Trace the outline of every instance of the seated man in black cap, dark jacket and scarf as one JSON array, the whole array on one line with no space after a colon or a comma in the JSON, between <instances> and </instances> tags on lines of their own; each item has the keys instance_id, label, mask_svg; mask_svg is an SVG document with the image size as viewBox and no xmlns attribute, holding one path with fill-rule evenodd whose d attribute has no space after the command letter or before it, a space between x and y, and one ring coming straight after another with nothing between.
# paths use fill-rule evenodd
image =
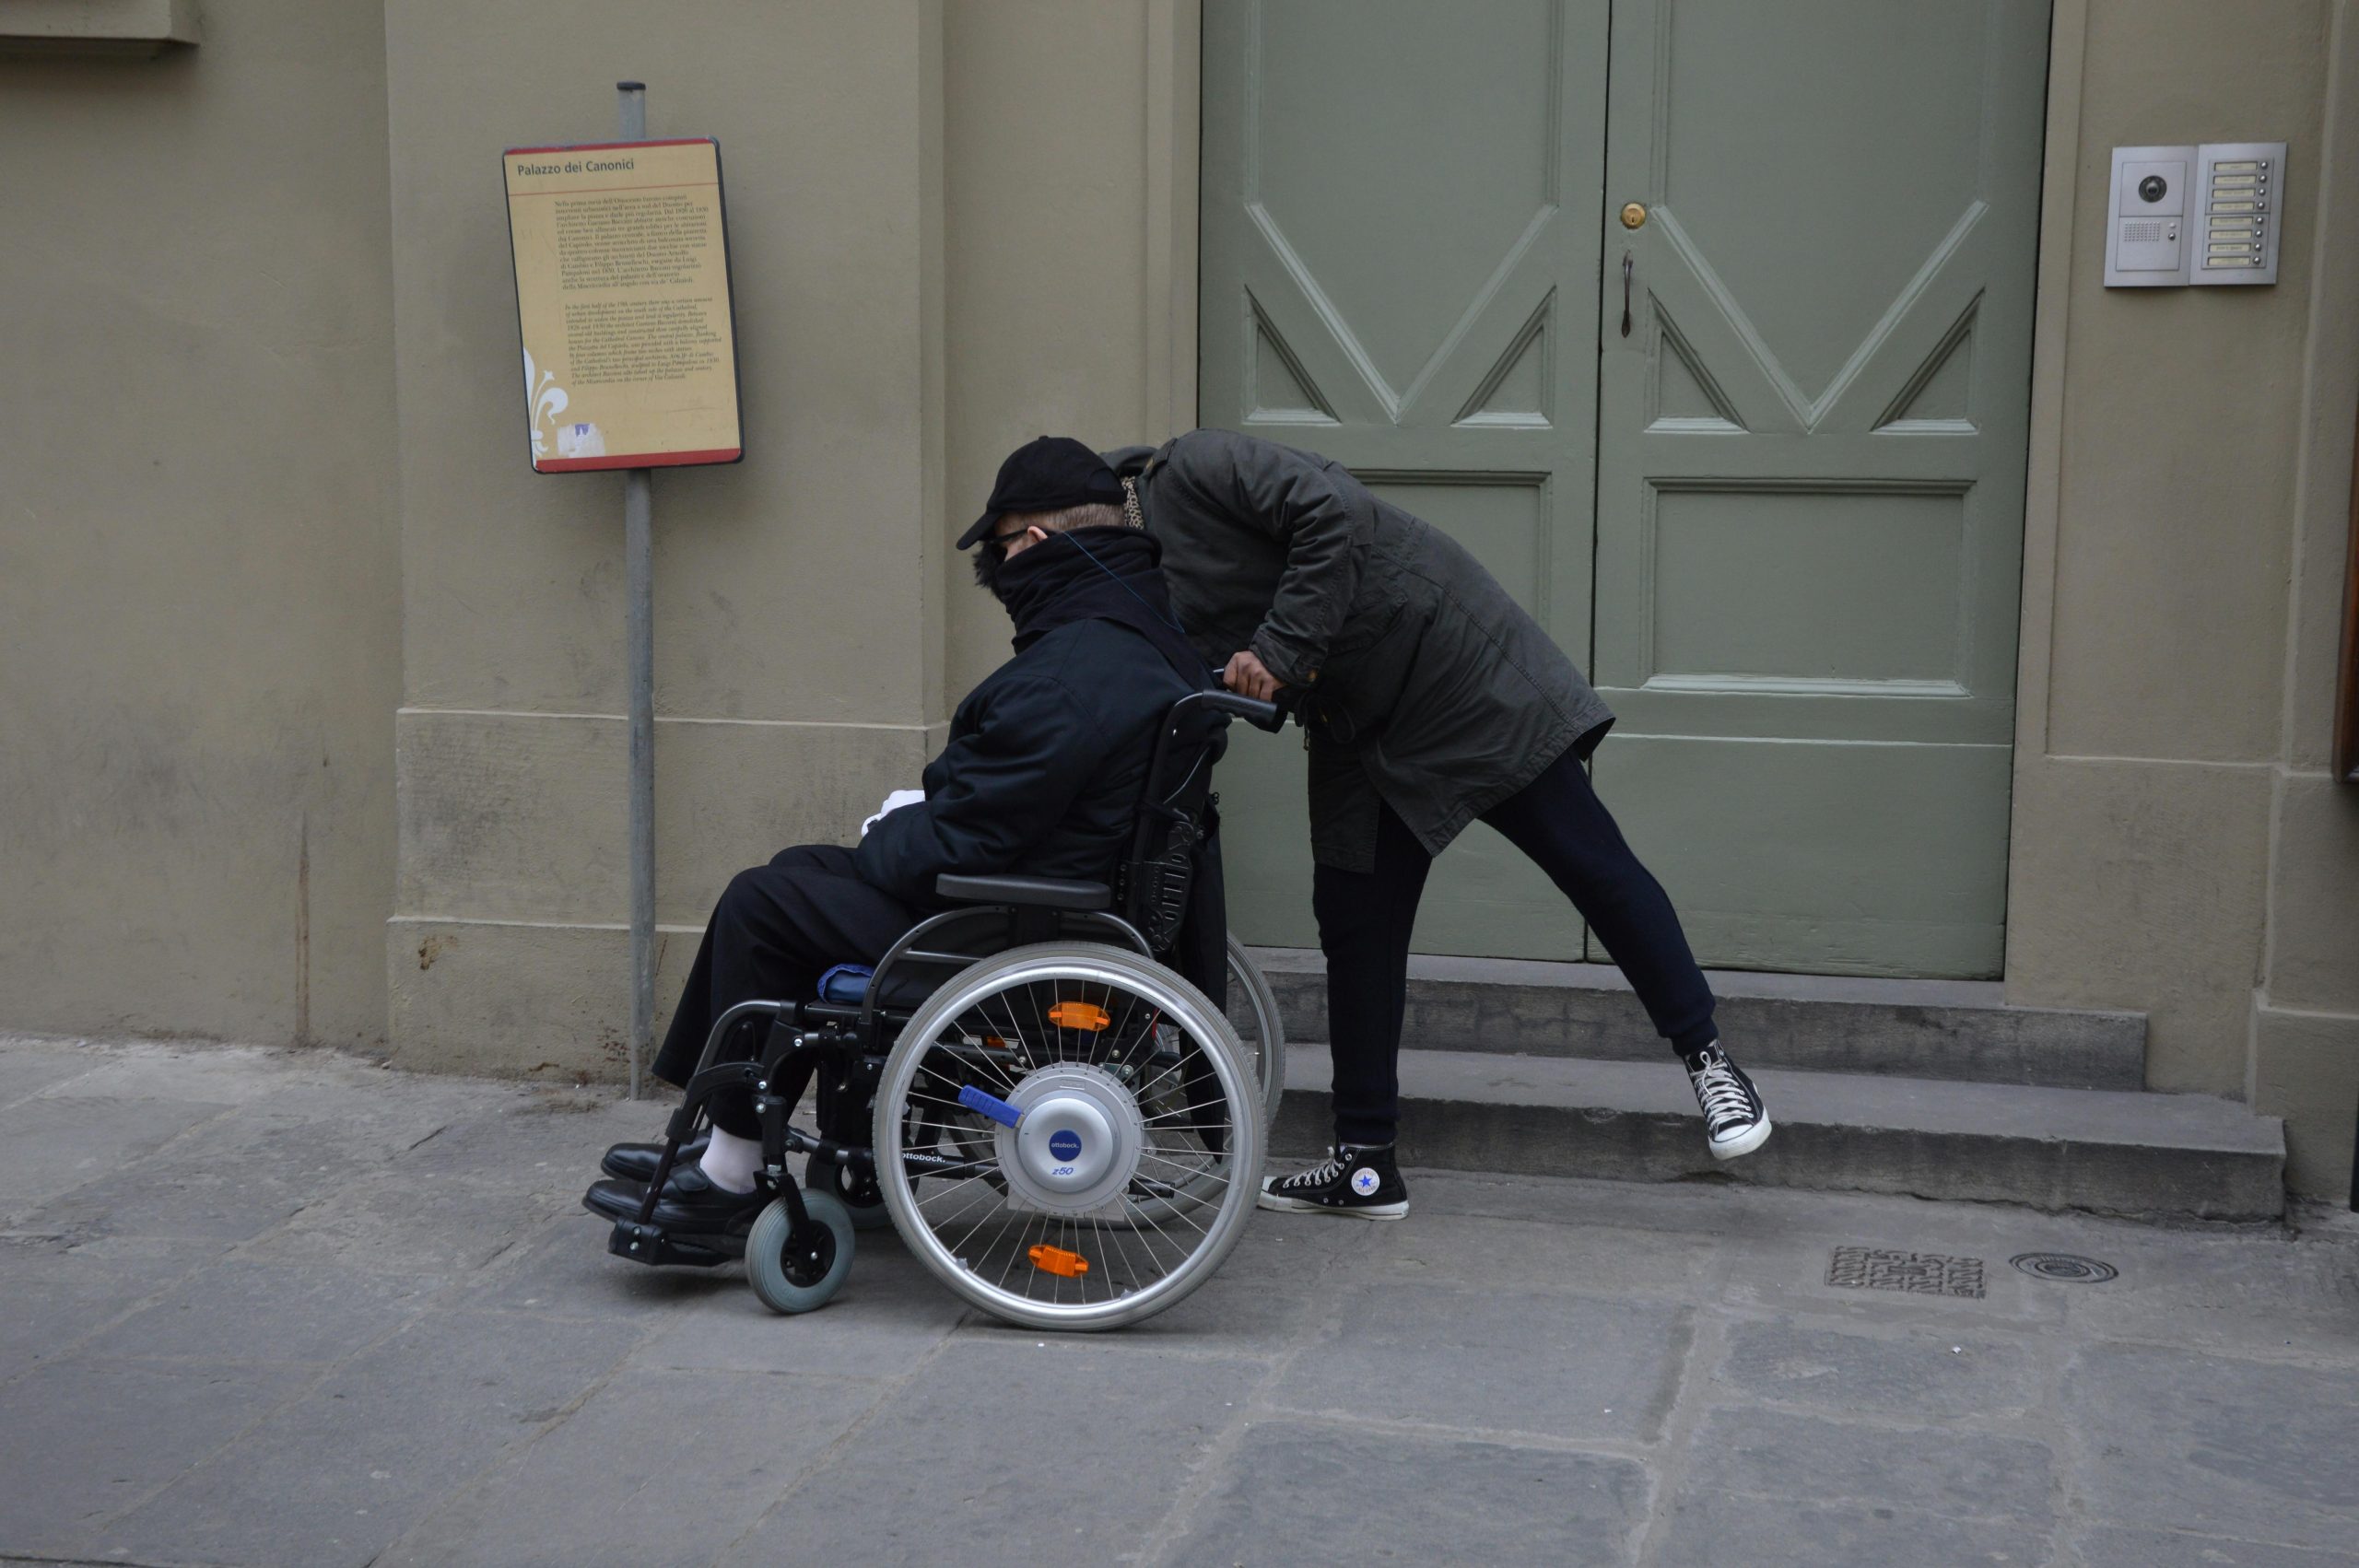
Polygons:
<instances>
[{"instance_id":1,"label":"seated man in black cap, dark jacket and scarf","mask_svg":"<svg viewBox=\"0 0 2359 1568\"><path fill-rule=\"evenodd\" d=\"M1113 472L1078 441L1040 439L1007 460L958 545L981 545L974 578L1007 608L1014 658L958 705L922 804L887 811L856 849L797 844L729 882L653 1061L658 1078L686 1087L731 1007L811 1000L833 967L878 964L946 908L944 875L1113 882L1165 712L1215 686L1172 618L1154 540L1123 526L1121 502ZM762 1049L753 1023L719 1059ZM802 1087L781 1087L786 1103ZM828 1106L828 1089L823 1080L821 1134L866 1144L861 1106ZM672 1240L743 1252L769 1200L755 1179L762 1127L743 1087L712 1094L708 1113L710 1139L682 1146L651 1210L661 1144L611 1148L583 1207L609 1219L646 1210Z\"/></svg>"}]
</instances>

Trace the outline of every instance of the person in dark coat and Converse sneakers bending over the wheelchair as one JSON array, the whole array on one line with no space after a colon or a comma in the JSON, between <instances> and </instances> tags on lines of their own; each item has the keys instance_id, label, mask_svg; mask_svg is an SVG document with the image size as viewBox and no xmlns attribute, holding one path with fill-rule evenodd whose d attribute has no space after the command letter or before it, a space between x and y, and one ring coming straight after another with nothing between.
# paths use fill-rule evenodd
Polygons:
<instances>
[{"instance_id":1,"label":"person in dark coat and Converse sneakers bending over the wheelchair","mask_svg":"<svg viewBox=\"0 0 2359 1568\"><path fill-rule=\"evenodd\" d=\"M1260 1205L1408 1212L1392 1148L1408 934L1427 868L1472 821L1604 941L1687 1066L1713 1158L1760 1148L1769 1113L1720 1045L1680 917L1583 769L1614 714L1548 632L1465 547L1314 453L1196 429L1106 460L1196 651L1307 731L1335 1146L1264 1179Z\"/></svg>"}]
</instances>

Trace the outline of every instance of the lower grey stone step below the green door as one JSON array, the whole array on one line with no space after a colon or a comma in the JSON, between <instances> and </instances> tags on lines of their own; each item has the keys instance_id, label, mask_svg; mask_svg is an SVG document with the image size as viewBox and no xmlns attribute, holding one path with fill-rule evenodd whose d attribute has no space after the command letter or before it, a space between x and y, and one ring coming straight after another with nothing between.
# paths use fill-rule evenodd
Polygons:
<instances>
[{"instance_id":1,"label":"lower grey stone step below the green door","mask_svg":"<svg viewBox=\"0 0 2359 1568\"><path fill-rule=\"evenodd\" d=\"M1635 1181L1722 1174L2156 1219L2286 1210L2284 1125L2227 1099L1887 1073L1753 1078L1776 1132L1722 1165L1670 1061L1401 1052L1401 1162ZM1274 1153L1316 1155L1330 1134L1326 1047L1288 1047L1286 1082Z\"/></svg>"}]
</instances>

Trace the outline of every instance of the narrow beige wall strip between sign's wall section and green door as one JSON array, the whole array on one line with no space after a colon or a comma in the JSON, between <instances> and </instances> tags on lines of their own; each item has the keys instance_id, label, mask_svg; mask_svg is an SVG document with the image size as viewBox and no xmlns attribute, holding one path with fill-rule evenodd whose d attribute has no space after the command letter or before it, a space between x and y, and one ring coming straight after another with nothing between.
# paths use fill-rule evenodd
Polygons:
<instances>
[{"instance_id":1,"label":"narrow beige wall strip between sign's wall section and green door","mask_svg":"<svg viewBox=\"0 0 2359 1568\"><path fill-rule=\"evenodd\" d=\"M946 14L953 523L1033 436L1097 448L1196 424L1201 9L1000 0ZM948 693L1007 658L1007 615L946 564Z\"/></svg>"}]
</instances>

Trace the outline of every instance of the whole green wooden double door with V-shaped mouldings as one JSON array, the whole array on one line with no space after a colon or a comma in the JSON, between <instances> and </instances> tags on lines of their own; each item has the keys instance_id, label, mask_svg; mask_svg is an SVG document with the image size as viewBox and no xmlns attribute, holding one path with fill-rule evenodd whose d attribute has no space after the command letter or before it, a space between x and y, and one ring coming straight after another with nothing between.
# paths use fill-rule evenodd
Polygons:
<instances>
[{"instance_id":1,"label":"whole green wooden double door with V-shaped mouldings","mask_svg":"<svg viewBox=\"0 0 2359 1568\"><path fill-rule=\"evenodd\" d=\"M1463 540L1706 964L2000 969L2045 0L1205 0L1203 424ZM1302 755L1231 922L1312 946ZM1606 957L1477 825L1418 950Z\"/></svg>"}]
</instances>

